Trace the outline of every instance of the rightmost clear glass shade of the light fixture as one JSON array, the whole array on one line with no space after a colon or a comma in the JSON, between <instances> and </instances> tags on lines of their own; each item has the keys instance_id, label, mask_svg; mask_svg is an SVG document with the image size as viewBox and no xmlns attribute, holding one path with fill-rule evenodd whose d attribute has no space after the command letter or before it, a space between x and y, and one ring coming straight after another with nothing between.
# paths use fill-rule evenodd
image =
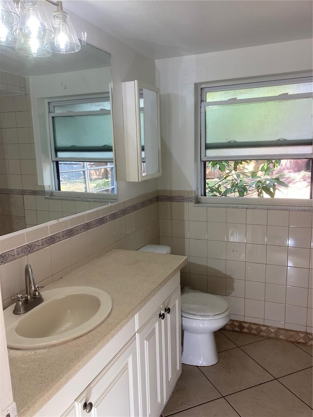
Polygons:
<instances>
[{"instance_id":1,"label":"rightmost clear glass shade of the light fixture","mask_svg":"<svg viewBox=\"0 0 313 417\"><path fill-rule=\"evenodd\" d=\"M55 37L46 42L45 47L49 51L59 54L78 52L81 46L68 14L63 10L57 10L52 16Z\"/></svg>"}]
</instances>

